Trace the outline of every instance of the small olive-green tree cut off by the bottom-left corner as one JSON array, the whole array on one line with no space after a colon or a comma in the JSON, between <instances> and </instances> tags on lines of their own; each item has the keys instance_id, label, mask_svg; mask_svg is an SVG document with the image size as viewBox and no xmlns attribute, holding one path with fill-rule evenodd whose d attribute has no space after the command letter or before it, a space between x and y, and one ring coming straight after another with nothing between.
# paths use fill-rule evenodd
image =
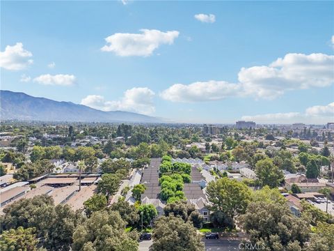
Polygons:
<instances>
[{"instance_id":1,"label":"small olive-green tree cut off by the bottom-left corner","mask_svg":"<svg viewBox=\"0 0 334 251\"><path fill-rule=\"evenodd\" d=\"M2 251L35 251L38 240L35 236L35 229L18 227L3 231L0 235L0 247Z\"/></svg>"}]
</instances>

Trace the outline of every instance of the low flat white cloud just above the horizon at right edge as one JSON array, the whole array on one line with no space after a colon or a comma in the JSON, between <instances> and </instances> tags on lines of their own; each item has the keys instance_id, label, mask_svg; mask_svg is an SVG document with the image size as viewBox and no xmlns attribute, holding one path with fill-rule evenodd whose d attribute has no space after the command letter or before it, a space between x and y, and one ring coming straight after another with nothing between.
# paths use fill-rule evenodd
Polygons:
<instances>
[{"instance_id":1,"label":"low flat white cloud just above the horizon at right edge","mask_svg":"<svg viewBox=\"0 0 334 251\"><path fill-rule=\"evenodd\" d=\"M305 112L287 112L242 116L241 119L257 123L326 123L334 119L334 102L328 105L308 107Z\"/></svg>"}]
</instances>

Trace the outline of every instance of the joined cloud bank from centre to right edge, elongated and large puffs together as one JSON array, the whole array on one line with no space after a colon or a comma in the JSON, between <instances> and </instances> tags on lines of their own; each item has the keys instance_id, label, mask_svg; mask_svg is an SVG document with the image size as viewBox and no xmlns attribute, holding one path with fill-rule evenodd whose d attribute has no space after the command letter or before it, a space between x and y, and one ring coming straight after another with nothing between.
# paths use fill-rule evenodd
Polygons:
<instances>
[{"instance_id":1,"label":"joined cloud bank from centre to right edge, elongated and large puffs together","mask_svg":"<svg viewBox=\"0 0 334 251\"><path fill-rule=\"evenodd\" d=\"M269 66L241 68L237 84L215 80L174 84L161 97L174 102L221 100L228 96L270 100L286 91L330 86L334 82L333 67L334 56L291 53Z\"/></svg>"}]
</instances>

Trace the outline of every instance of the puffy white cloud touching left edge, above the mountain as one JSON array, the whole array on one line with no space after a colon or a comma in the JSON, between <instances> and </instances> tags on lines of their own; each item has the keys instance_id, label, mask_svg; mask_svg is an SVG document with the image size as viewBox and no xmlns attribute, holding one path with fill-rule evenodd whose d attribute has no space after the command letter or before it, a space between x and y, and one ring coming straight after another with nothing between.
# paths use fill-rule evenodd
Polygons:
<instances>
[{"instance_id":1,"label":"puffy white cloud touching left edge, above the mountain","mask_svg":"<svg viewBox=\"0 0 334 251\"><path fill-rule=\"evenodd\" d=\"M4 52L0 52L0 67L7 70L23 70L33 63L33 54L24 50L22 43L7 45Z\"/></svg>"}]
</instances>

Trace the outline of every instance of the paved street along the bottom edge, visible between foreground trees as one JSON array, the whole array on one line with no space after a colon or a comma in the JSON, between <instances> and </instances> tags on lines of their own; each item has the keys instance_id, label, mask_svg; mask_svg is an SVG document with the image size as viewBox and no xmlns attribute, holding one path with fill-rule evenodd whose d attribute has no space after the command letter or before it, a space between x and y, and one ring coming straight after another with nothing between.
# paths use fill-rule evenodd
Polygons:
<instances>
[{"instance_id":1,"label":"paved street along the bottom edge, visible between foreground trees","mask_svg":"<svg viewBox=\"0 0 334 251\"><path fill-rule=\"evenodd\" d=\"M206 251L237 251L239 250L240 241L218 239L218 240L207 240L203 239L205 243ZM148 251L151 241L139 241L139 251Z\"/></svg>"}]
</instances>

